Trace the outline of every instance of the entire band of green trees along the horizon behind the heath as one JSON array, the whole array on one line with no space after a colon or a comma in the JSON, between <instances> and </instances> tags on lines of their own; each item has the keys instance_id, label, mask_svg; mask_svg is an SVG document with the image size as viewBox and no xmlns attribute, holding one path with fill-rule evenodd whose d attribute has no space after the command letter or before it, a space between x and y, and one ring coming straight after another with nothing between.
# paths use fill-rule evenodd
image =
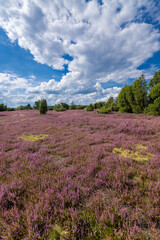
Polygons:
<instances>
[{"instance_id":1,"label":"entire band of green trees along the horizon behind the heath","mask_svg":"<svg viewBox=\"0 0 160 240\"><path fill-rule=\"evenodd\" d=\"M15 110L40 110L41 101L30 104L20 105L17 108L10 108L4 104L0 104L0 111L15 111ZM45 100L46 101L46 100ZM94 104L76 105L72 102L70 105L61 102L54 106L47 106L47 110L66 111L68 109L86 109L93 111L97 109L98 113L107 114L114 111L120 113L144 113L147 115L160 115L160 70L158 70L153 78L147 83L145 76L142 74L136 79L132 85L125 85L117 98L110 97L107 102L96 102ZM47 113L47 110L45 113Z\"/></svg>"}]
</instances>

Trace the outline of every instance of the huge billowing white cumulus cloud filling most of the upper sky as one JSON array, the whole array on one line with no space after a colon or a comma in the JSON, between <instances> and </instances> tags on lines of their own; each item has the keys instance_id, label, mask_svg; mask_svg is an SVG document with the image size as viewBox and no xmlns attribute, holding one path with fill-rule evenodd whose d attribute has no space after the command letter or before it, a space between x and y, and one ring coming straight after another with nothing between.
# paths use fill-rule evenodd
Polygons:
<instances>
[{"instance_id":1,"label":"huge billowing white cumulus cloud filling most of the upper sky","mask_svg":"<svg viewBox=\"0 0 160 240\"><path fill-rule=\"evenodd\" d=\"M160 33L154 25L159 5L154 0L0 3L0 26L12 42L28 49L39 63L59 70L68 65L69 73L60 82L52 79L27 86L27 94L101 99L108 93L101 82L137 77L142 72L137 68L160 50ZM150 24L146 15L152 18Z\"/></svg>"}]
</instances>

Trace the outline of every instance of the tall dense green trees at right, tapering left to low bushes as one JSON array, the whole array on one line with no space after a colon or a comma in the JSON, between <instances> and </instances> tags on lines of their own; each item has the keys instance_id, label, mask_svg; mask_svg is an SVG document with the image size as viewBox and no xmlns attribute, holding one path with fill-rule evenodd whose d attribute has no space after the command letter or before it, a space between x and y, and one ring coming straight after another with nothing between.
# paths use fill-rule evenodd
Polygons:
<instances>
[{"instance_id":1,"label":"tall dense green trees at right, tapering left to low bushes","mask_svg":"<svg viewBox=\"0 0 160 240\"><path fill-rule=\"evenodd\" d=\"M147 115L160 115L160 70L147 84L142 74L131 85L125 85L118 97L110 97L107 103L90 104L88 111L99 108L98 113L144 113Z\"/></svg>"}]
</instances>

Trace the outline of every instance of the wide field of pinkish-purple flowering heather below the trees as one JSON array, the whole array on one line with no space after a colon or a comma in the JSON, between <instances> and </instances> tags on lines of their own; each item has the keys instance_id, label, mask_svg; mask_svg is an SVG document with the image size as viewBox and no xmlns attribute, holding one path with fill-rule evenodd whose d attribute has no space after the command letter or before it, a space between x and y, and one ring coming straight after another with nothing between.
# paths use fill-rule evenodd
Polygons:
<instances>
[{"instance_id":1,"label":"wide field of pinkish-purple flowering heather below the trees","mask_svg":"<svg viewBox=\"0 0 160 240\"><path fill-rule=\"evenodd\" d=\"M159 240L160 117L23 110L0 119L0 239Z\"/></svg>"}]
</instances>

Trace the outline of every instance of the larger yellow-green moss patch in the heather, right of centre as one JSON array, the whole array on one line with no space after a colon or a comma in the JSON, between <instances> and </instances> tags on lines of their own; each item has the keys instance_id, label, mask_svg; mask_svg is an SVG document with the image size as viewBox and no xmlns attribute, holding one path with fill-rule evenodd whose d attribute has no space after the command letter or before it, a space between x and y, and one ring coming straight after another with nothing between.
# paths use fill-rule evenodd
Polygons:
<instances>
[{"instance_id":1,"label":"larger yellow-green moss patch in the heather, right of centre","mask_svg":"<svg viewBox=\"0 0 160 240\"><path fill-rule=\"evenodd\" d=\"M132 151L123 148L114 148L113 153L120 155L124 158L132 158L136 162L148 162L151 155L149 153L141 154L138 151Z\"/></svg>"}]
</instances>

